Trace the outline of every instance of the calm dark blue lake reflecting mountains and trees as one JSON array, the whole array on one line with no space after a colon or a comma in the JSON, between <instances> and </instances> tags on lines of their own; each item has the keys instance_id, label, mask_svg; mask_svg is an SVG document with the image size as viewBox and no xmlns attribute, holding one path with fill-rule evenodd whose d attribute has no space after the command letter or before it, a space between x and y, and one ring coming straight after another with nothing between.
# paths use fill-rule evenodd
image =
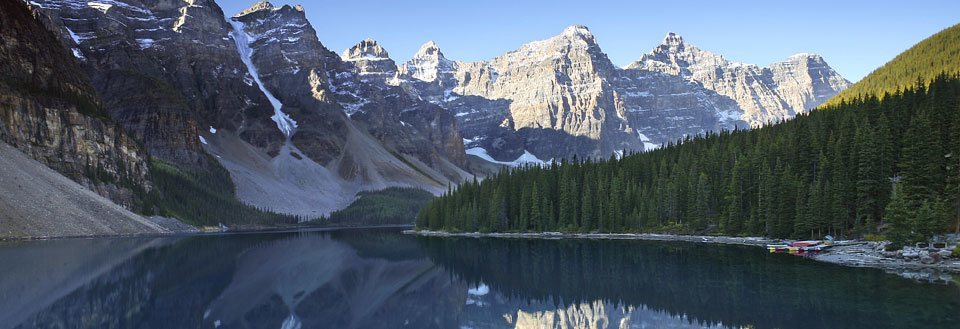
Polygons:
<instances>
[{"instance_id":1,"label":"calm dark blue lake reflecting mountains and trees","mask_svg":"<svg viewBox=\"0 0 960 329\"><path fill-rule=\"evenodd\" d=\"M761 248L395 229L0 243L0 328L958 328L960 288Z\"/></svg>"}]
</instances>

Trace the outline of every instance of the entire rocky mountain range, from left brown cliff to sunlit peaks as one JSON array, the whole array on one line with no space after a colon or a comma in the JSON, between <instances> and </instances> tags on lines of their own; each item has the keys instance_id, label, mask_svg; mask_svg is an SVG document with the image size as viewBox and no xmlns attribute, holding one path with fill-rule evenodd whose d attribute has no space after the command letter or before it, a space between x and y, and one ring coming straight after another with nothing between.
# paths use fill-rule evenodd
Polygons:
<instances>
[{"instance_id":1,"label":"entire rocky mountain range, from left brown cliff to sunlit peaks","mask_svg":"<svg viewBox=\"0 0 960 329\"><path fill-rule=\"evenodd\" d=\"M101 126L47 141L86 153L36 148L38 131L60 129L38 120L40 104L4 118L4 140L130 209L196 225L311 220L361 192L440 194L503 165L623 156L749 127L735 97L682 70L618 68L579 25L489 61L450 60L428 42L398 63L372 39L330 51L301 6L262 1L229 17L213 0L27 6L74 65L44 72L87 81L70 92ZM800 107L827 92L810 72L832 72L815 56L764 70L798 81L775 88ZM32 92L18 97L36 102Z\"/></svg>"}]
</instances>

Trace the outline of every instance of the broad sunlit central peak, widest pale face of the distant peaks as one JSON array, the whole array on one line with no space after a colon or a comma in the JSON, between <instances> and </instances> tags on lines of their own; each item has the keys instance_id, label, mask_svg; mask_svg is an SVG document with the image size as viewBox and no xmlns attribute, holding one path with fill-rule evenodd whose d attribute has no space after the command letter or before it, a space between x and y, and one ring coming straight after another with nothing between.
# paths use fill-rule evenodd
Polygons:
<instances>
[{"instance_id":1,"label":"broad sunlit central peak, widest pale face of the distant peaks","mask_svg":"<svg viewBox=\"0 0 960 329\"><path fill-rule=\"evenodd\" d=\"M523 149L538 158L605 157L641 149L611 85L616 70L585 27L571 26L487 63L462 66L452 95L508 100L509 117L496 123L516 131ZM495 144L489 146L496 150Z\"/></svg>"}]
</instances>

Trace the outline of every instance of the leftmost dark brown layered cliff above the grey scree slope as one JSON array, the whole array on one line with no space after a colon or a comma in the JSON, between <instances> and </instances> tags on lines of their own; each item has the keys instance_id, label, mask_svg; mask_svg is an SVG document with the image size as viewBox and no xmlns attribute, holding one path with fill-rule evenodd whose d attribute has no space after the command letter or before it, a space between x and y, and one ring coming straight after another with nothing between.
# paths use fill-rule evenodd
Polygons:
<instances>
[{"instance_id":1,"label":"leftmost dark brown layered cliff above the grey scree slope","mask_svg":"<svg viewBox=\"0 0 960 329\"><path fill-rule=\"evenodd\" d=\"M146 155L108 118L67 48L17 1L0 3L0 140L114 202L151 189Z\"/></svg>"}]
</instances>

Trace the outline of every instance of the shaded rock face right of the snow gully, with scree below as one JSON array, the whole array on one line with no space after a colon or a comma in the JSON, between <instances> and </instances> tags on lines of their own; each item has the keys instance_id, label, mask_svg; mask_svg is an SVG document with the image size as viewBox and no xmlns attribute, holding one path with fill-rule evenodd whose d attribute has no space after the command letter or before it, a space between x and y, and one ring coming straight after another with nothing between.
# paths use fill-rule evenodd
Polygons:
<instances>
[{"instance_id":1,"label":"shaded rock face right of the snow gully, with scree below","mask_svg":"<svg viewBox=\"0 0 960 329\"><path fill-rule=\"evenodd\" d=\"M285 136L270 157L229 133L209 140L208 151L231 171L244 201L317 216L359 191L416 186L439 193L469 176L459 167L463 142L452 114L367 78L396 69L377 63L386 51L375 42L341 59L320 43L302 7L267 2L229 24L251 84L270 100Z\"/></svg>"}]
</instances>

